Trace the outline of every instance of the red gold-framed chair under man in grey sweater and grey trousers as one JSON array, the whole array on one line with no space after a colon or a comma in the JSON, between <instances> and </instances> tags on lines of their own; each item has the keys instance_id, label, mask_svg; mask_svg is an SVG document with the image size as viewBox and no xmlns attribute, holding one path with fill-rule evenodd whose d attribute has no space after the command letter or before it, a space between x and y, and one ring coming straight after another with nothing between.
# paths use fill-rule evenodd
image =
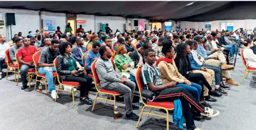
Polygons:
<instances>
[{"instance_id":1,"label":"red gold-framed chair under man in grey sweater and grey trousers","mask_svg":"<svg viewBox=\"0 0 256 130\"><path fill-rule=\"evenodd\" d=\"M94 106L97 100L105 100L105 103L107 103L107 101L113 101L114 102L114 108L116 106L116 96L121 95L119 92L115 92L115 91L109 91L106 90L104 88L100 88L100 79L98 78L97 72L96 72L96 62L98 59L94 60L94 62L92 63L92 75L94 75L94 82L95 82L95 88L97 90L97 94L94 100ZM101 98L99 97L99 94L107 94L107 98ZM112 97L110 97L110 99L108 98L108 95L113 95L114 100L112 100ZM94 111L94 106L92 106L92 111Z\"/></svg>"}]
</instances>

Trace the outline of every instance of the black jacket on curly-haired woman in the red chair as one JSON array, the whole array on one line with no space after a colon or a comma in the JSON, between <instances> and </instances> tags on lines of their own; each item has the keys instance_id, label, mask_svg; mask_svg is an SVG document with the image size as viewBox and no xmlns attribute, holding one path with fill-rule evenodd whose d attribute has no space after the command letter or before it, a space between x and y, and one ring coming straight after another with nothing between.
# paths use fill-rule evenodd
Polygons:
<instances>
[{"instance_id":1,"label":"black jacket on curly-haired woman in the red chair","mask_svg":"<svg viewBox=\"0 0 256 130\"><path fill-rule=\"evenodd\" d=\"M73 58L73 54L70 53L69 57ZM79 70L79 67L76 66L76 70ZM71 71L68 70L68 57L66 55L59 55L57 60L57 72L61 79L65 79L66 76L71 75Z\"/></svg>"}]
</instances>

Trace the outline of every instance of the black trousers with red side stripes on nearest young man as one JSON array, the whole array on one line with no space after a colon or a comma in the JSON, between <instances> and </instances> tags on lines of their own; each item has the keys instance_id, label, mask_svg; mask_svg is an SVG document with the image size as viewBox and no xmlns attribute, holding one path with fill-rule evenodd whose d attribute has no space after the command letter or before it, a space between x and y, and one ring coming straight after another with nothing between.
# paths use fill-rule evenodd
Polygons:
<instances>
[{"instance_id":1,"label":"black trousers with red side stripes on nearest young man","mask_svg":"<svg viewBox=\"0 0 256 130\"><path fill-rule=\"evenodd\" d=\"M191 106L198 112L203 112L204 106L202 106L199 101L189 94L185 88L176 87L163 89L153 101L174 101L177 99L179 99L182 103L182 114L186 120L186 129L195 129L196 126L189 104L191 104Z\"/></svg>"}]
</instances>

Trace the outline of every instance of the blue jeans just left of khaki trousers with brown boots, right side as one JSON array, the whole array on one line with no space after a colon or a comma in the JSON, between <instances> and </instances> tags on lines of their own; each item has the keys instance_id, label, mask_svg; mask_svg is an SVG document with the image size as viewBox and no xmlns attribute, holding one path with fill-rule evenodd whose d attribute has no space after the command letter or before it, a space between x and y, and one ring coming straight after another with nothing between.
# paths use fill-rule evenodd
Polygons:
<instances>
[{"instance_id":1,"label":"blue jeans just left of khaki trousers with brown boots, right side","mask_svg":"<svg viewBox=\"0 0 256 130\"><path fill-rule=\"evenodd\" d=\"M212 65L207 65L207 64L204 64L203 67L207 67L207 69L211 69L215 72L215 85L220 85L221 82L222 82L222 70L221 70L221 67L219 66L212 66Z\"/></svg>"}]
</instances>

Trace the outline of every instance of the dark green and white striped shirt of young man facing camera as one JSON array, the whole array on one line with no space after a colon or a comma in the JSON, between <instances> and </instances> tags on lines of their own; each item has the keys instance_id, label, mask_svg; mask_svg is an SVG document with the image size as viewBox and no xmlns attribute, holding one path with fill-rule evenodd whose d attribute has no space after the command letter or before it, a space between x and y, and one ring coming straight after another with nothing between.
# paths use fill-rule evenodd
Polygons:
<instances>
[{"instance_id":1,"label":"dark green and white striped shirt of young man facing camera","mask_svg":"<svg viewBox=\"0 0 256 130\"><path fill-rule=\"evenodd\" d=\"M155 86L162 85L162 79L160 77L160 70L157 66L149 66L145 63L141 69L140 77L143 81L143 89L149 89L147 84L153 83Z\"/></svg>"}]
</instances>

